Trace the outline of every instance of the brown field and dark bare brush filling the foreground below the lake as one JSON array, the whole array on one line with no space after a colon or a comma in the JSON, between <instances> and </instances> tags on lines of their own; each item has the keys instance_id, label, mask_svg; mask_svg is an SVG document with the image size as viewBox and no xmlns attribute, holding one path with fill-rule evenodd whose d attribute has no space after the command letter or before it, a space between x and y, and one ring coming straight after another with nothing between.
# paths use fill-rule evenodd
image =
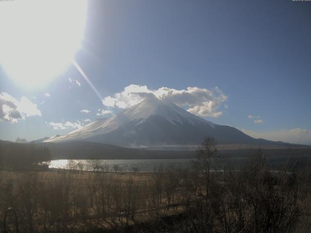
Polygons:
<instances>
[{"instance_id":1,"label":"brown field and dark bare brush filling the foreground below the lake","mask_svg":"<svg viewBox=\"0 0 311 233\"><path fill-rule=\"evenodd\" d=\"M0 219L13 207L22 233L311 232L311 168L295 157L272 170L258 150L233 169L215 145L189 170L1 171Z\"/></svg>"}]
</instances>

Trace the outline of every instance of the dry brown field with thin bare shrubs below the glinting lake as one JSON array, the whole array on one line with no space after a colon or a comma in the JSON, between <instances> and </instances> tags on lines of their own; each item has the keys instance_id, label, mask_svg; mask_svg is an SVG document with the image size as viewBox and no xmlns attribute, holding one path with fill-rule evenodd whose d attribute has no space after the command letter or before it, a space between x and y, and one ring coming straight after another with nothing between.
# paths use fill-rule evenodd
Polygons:
<instances>
[{"instance_id":1,"label":"dry brown field with thin bare shrubs below the glinting lake","mask_svg":"<svg viewBox=\"0 0 311 233\"><path fill-rule=\"evenodd\" d=\"M85 229L86 225L119 228L176 215L184 209L178 204L182 200L177 199L176 186L167 191L167 200L162 187L164 176L60 169L0 171L0 217L6 208L13 207L22 232L58 232L64 228Z\"/></svg>"}]
</instances>

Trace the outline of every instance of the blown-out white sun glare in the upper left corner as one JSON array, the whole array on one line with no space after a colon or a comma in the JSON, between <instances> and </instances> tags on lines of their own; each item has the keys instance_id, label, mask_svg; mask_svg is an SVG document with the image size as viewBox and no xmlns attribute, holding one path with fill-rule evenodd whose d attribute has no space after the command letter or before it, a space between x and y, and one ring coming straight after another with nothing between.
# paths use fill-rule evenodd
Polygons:
<instances>
[{"instance_id":1,"label":"blown-out white sun glare in the upper left corner","mask_svg":"<svg viewBox=\"0 0 311 233\"><path fill-rule=\"evenodd\" d=\"M25 88L49 84L81 48L86 0L15 0L0 7L0 66Z\"/></svg>"}]
</instances>

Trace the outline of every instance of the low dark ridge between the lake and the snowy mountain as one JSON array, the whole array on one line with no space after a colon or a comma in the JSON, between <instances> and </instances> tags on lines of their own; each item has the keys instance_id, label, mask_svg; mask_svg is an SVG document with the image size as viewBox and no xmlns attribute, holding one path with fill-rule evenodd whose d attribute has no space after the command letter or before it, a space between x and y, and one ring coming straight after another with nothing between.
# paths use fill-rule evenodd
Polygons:
<instances>
[{"instance_id":1,"label":"low dark ridge between the lake and the snowy mountain","mask_svg":"<svg viewBox=\"0 0 311 233\"><path fill-rule=\"evenodd\" d=\"M20 146L20 143L1 141L0 147L5 145ZM23 144L26 146L25 144ZM52 160L57 159L192 159L195 157L195 147L191 150L184 150L185 148L122 148L118 146L108 145L104 143L86 142L86 141L68 141L62 143L35 143L35 147L48 148L52 153ZM223 147L229 146L229 147ZM258 150L258 146L252 145L253 149L232 147L232 145L218 145L218 154L224 157L247 157L252 156L254 151ZM250 145L246 145L250 146ZM311 155L311 147L297 146L289 150L286 147L269 148L264 146L261 148L265 154L272 156L272 158L288 159L293 155L307 156ZM0 150L1 151L1 150ZM1 153L0 153L1 155ZM23 154L20 154L23 156Z\"/></svg>"}]
</instances>

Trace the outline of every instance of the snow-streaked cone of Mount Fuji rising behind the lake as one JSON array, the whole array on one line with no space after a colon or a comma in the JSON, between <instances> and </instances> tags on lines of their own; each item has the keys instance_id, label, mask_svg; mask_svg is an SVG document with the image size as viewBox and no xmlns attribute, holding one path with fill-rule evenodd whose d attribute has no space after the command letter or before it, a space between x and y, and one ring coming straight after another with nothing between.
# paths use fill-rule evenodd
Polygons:
<instances>
[{"instance_id":1,"label":"snow-streaked cone of Mount Fuji rising behind the lake","mask_svg":"<svg viewBox=\"0 0 311 233\"><path fill-rule=\"evenodd\" d=\"M217 125L172 102L145 99L109 118L97 119L66 135L53 136L44 142L88 141L121 147L156 147L199 145L205 137L218 144L270 144L255 139L236 128Z\"/></svg>"}]
</instances>

